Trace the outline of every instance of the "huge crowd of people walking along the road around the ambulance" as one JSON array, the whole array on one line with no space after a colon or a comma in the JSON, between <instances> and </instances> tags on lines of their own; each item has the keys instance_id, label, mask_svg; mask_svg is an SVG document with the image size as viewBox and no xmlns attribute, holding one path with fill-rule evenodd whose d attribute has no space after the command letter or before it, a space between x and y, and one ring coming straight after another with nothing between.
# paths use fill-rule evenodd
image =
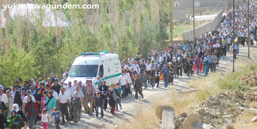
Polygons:
<instances>
[{"instance_id":1,"label":"huge crowd of people walking along the road around the ambulance","mask_svg":"<svg viewBox=\"0 0 257 129\"><path fill-rule=\"evenodd\" d=\"M104 111L109 109L114 112L121 110L121 100L132 95L135 90L135 99L138 94L143 95L143 87L152 89L159 87L160 80L164 80L164 87L173 84L174 78L181 78L183 73L190 78L199 72L205 76L209 72L216 72L220 59L226 59L226 54L239 54L239 46L247 42L246 4L239 4L235 8L235 29L233 35L233 11L223 17L221 26L212 32L206 32L199 38L189 39L183 43L176 43L167 49L153 49L146 57L134 58L130 55L121 63L121 75L115 84L106 86L98 76L98 84L86 80L83 86L81 81L65 84L69 69L63 73L59 81L53 73L47 81L41 78L39 84L33 79L23 82L15 81L12 87L4 89L0 85L0 128L34 128L38 120L41 120L43 128L54 123L59 127L60 121L77 123L81 119L84 107L85 113L98 117L100 108L101 117ZM256 39L256 8L257 2L250 2L250 46ZM235 41L235 45L233 45ZM88 104L90 103L90 104Z\"/></svg>"}]
</instances>

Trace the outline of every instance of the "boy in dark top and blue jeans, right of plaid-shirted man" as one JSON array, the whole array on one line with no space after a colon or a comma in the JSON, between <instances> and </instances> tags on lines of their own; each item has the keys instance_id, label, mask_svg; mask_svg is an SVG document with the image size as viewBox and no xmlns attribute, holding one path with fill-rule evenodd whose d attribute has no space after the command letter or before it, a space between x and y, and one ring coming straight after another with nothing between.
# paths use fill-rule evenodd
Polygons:
<instances>
[{"instance_id":1,"label":"boy in dark top and blue jeans, right of plaid-shirted man","mask_svg":"<svg viewBox=\"0 0 257 129\"><path fill-rule=\"evenodd\" d=\"M96 115L95 117L98 117L98 108L100 107L101 109L101 117L103 117L103 108L104 108L104 99L100 96L101 93L100 91L97 92L97 96L95 96L94 98L94 106L95 106L95 111L96 111Z\"/></svg>"}]
</instances>

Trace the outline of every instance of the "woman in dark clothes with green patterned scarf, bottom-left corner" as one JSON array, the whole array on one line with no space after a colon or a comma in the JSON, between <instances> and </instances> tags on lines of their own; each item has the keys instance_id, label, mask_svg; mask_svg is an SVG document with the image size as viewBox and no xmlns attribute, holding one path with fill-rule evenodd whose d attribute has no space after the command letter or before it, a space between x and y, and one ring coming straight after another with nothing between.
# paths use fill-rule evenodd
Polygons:
<instances>
[{"instance_id":1,"label":"woman in dark clothes with green patterned scarf, bottom-left corner","mask_svg":"<svg viewBox=\"0 0 257 129\"><path fill-rule=\"evenodd\" d=\"M6 127L7 128L22 128L21 121L22 121L21 115L18 115L16 113L16 110L13 109L11 111L11 115L9 116L9 118L7 120L8 124L6 124Z\"/></svg>"}]
</instances>

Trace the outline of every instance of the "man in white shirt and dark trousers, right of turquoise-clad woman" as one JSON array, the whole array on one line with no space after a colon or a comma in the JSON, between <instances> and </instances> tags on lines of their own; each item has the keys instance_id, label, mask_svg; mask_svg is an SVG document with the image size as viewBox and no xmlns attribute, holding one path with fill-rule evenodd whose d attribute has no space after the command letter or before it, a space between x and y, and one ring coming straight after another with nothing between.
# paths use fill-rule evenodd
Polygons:
<instances>
[{"instance_id":1,"label":"man in white shirt and dark trousers, right of turquoise-clad woman","mask_svg":"<svg viewBox=\"0 0 257 129\"><path fill-rule=\"evenodd\" d=\"M61 93L58 96L59 102L58 102L58 107L60 107L60 112L62 113L62 123L65 124L65 117L69 119L68 115L68 107L70 105L70 97L67 93L65 93L65 88L60 88Z\"/></svg>"}]
</instances>

